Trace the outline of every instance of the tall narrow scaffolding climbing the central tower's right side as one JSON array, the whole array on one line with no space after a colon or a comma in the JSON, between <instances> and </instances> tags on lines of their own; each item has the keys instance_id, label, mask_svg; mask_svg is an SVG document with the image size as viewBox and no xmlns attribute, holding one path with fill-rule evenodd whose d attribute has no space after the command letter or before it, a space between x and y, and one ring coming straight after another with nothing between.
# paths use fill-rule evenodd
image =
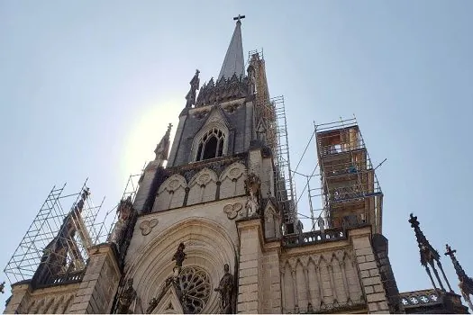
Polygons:
<instances>
[{"instance_id":1,"label":"tall narrow scaffolding climbing the central tower's right side","mask_svg":"<svg viewBox=\"0 0 473 315\"><path fill-rule=\"evenodd\" d=\"M287 139L287 118L284 96L269 97L265 61L261 51L249 52L249 74L254 73L255 85L255 121L257 133L264 130L264 142L271 149L275 163L275 190L277 202L283 211L285 233L294 233L297 222L296 187L293 182ZM251 76L251 75L250 75ZM258 137L259 138L259 137Z\"/></svg>"}]
</instances>

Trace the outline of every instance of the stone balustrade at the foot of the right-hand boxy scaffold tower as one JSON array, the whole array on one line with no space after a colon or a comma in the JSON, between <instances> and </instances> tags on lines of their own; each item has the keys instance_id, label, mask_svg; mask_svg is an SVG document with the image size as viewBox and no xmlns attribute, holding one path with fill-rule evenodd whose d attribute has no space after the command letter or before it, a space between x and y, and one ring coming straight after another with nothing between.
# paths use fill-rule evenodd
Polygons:
<instances>
[{"instance_id":1,"label":"stone balustrade at the foot of the right-hand boxy scaffold tower","mask_svg":"<svg viewBox=\"0 0 473 315\"><path fill-rule=\"evenodd\" d=\"M301 234L286 235L283 238L283 246L298 247L346 238L346 231L343 229L325 229L323 232L315 230Z\"/></svg>"}]
</instances>

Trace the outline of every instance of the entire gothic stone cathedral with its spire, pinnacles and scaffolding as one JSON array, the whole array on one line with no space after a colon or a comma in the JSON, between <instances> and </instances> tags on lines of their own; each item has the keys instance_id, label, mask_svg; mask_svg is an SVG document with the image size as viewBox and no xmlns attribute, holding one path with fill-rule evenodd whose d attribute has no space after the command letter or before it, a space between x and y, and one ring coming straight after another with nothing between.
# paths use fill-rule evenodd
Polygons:
<instances>
[{"instance_id":1,"label":"entire gothic stone cathedral with its spire, pinnacles and scaffolding","mask_svg":"<svg viewBox=\"0 0 473 315\"><path fill-rule=\"evenodd\" d=\"M383 193L354 120L315 130L323 215L303 229L280 100L261 53L245 64L242 18L220 74L201 85L196 70L174 139L169 124L107 238L84 228L84 187L31 278L11 284L5 313L468 313L462 298L473 309L455 250L439 254L414 214L406 224L432 288L399 292Z\"/></svg>"}]
</instances>

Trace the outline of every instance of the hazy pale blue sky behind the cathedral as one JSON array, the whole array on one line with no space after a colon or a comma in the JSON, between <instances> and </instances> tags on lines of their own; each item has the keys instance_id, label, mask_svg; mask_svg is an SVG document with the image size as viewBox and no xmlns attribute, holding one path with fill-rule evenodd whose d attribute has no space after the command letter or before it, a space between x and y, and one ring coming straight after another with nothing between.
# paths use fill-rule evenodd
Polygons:
<instances>
[{"instance_id":1,"label":"hazy pale blue sky behind the cathedral","mask_svg":"<svg viewBox=\"0 0 473 315\"><path fill-rule=\"evenodd\" d=\"M355 114L373 164L387 158L377 178L399 290L432 287L414 212L459 293L443 253L449 243L473 275L467 0L0 1L2 269L53 185L77 193L88 177L93 199L114 208L168 123L176 128L196 68L201 84L218 76L238 14L245 56L264 49L269 93L285 97L293 166L314 121ZM315 164L312 143L298 172Z\"/></svg>"}]
</instances>

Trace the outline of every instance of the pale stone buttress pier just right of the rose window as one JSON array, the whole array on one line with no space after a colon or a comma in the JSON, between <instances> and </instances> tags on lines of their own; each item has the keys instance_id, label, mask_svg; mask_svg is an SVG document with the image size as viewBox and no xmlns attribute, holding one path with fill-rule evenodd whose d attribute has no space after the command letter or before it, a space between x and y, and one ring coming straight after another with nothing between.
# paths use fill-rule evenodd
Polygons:
<instances>
[{"instance_id":1,"label":"pale stone buttress pier just right of the rose window","mask_svg":"<svg viewBox=\"0 0 473 315\"><path fill-rule=\"evenodd\" d=\"M259 283L262 268L259 266L262 257L261 244L263 230L260 219L237 221L240 235L239 293L237 312L260 313L263 296Z\"/></svg>"}]
</instances>

